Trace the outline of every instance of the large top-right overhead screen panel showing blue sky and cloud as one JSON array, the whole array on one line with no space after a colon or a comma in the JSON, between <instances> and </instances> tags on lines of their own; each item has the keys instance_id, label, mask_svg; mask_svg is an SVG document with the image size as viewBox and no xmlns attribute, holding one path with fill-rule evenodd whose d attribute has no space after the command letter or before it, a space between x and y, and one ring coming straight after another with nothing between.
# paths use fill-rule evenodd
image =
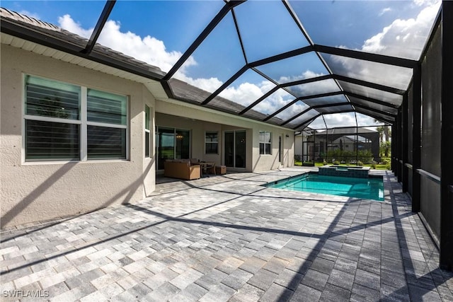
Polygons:
<instances>
[{"instance_id":1,"label":"large top-right overhead screen panel showing blue sky and cloud","mask_svg":"<svg viewBox=\"0 0 453 302\"><path fill-rule=\"evenodd\" d=\"M441 1L297 1L314 43L418 59Z\"/></svg>"}]
</instances>

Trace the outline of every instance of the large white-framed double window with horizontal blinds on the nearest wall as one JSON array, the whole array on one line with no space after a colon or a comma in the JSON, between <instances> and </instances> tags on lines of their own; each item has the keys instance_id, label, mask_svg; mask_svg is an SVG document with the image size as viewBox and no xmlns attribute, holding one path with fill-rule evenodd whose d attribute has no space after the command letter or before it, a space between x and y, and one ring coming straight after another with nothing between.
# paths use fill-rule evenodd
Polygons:
<instances>
[{"instance_id":1,"label":"large white-framed double window with horizontal blinds on the nearest wall","mask_svg":"<svg viewBox=\"0 0 453 302\"><path fill-rule=\"evenodd\" d=\"M25 76L25 161L125 159L127 97Z\"/></svg>"}]
</instances>

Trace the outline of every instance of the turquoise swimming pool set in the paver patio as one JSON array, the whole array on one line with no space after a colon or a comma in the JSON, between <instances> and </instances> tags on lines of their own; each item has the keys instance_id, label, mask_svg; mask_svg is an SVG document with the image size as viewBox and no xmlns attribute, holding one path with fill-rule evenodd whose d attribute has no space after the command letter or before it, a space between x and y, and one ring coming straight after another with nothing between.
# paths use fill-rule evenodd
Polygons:
<instances>
[{"instance_id":1,"label":"turquoise swimming pool set in the paver patio","mask_svg":"<svg viewBox=\"0 0 453 302\"><path fill-rule=\"evenodd\" d=\"M277 182L270 182L266 186L292 191L384 200L382 178L343 178L306 173Z\"/></svg>"}]
</instances>

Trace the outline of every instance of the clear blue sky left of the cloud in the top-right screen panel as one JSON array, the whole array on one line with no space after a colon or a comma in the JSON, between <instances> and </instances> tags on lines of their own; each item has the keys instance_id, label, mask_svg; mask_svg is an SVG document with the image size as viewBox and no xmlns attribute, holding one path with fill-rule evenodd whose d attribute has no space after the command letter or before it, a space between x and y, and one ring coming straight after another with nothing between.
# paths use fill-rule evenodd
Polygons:
<instances>
[{"instance_id":1,"label":"clear blue sky left of the cloud in the top-right screen panel","mask_svg":"<svg viewBox=\"0 0 453 302\"><path fill-rule=\"evenodd\" d=\"M290 1L315 43L360 49L397 19L416 18L415 1Z\"/></svg>"}]
</instances>

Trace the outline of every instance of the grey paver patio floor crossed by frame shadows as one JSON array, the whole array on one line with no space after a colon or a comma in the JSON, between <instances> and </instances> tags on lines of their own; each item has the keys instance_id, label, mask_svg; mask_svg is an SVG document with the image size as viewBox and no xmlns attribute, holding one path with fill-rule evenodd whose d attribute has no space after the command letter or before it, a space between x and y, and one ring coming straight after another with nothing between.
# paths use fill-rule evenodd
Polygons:
<instances>
[{"instance_id":1,"label":"grey paver patio floor crossed by frame shadows","mask_svg":"<svg viewBox=\"0 0 453 302\"><path fill-rule=\"evenodd\" d=\"M392 173L384 202L261 186L303 171L161 179L140 202L4 230L1 301L453 301Z\"/></svg>"}]
</instances>

